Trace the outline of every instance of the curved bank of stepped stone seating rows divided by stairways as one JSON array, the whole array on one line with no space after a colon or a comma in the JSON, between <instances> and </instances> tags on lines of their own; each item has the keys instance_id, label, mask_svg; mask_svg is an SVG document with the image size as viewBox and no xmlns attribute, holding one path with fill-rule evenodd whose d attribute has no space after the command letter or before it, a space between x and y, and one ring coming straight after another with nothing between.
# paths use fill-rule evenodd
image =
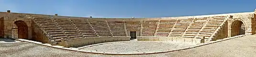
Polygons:
<instances>
[{"instance_id":1,"label":"curved bank of stepped stone seating rows divided by stairways","mask_svg":"<svg viewBox=\"0 0 256 57\"><path fill-rule=\"evenodd\" d=\"M226 17L111 20L33 16L33 21L44 31L44 34L49 38L51 43L66 47L77 47L79 45L93 43L129 40L127 38L131 38L131 31L136 31L138 40L176 41L199 44L200 42L204 42L204 40L213 39L218 30L226 22ZM119 37L125 39L112 40L113 38ZM92 40L86 38L104 38L104 40L94 39L96 42L93 43L73 43L73 41ZM172 39L170 40L170 38ZM68 44L69 42L72 42L72 44Z\"/></svg>"}]
</instances>

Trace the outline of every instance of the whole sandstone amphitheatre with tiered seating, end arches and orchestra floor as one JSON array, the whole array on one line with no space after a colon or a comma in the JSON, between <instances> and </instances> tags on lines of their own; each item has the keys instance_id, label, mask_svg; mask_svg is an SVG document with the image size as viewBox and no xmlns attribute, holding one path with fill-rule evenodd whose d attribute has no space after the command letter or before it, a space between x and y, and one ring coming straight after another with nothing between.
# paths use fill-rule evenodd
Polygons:
<instances>
[{"instance_id":1,"label":"whole sandstone amphitheatre with tiered seating, end arches and orchestra floor","mask_svg":"<svg viewBox=\"0 0 256 57\"><path fill-rule=\"evenodd\" d=\"M0 12L0 38L97 54L165 53L254 34L256 10L164 18L83 18Z\"/></svg>"}]
</instances>

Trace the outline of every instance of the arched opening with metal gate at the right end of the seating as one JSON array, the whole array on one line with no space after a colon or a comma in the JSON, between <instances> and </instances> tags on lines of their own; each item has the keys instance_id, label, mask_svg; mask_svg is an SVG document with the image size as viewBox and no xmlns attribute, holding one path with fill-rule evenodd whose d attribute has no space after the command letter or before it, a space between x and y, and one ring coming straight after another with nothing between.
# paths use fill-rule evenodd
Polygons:
<instances>
[{"instance_id":1,"label":"arched opening with metal gate at the right end of the seating","mask_svg":"<svg viewBox=\"0 0 256 57\"><path fill-rule=\"evenodd\" d=\"M231 37L237 36L237 35L245 35L245 25L240 20L235 20L231 24Z\"/></svg>"}]
</instances>

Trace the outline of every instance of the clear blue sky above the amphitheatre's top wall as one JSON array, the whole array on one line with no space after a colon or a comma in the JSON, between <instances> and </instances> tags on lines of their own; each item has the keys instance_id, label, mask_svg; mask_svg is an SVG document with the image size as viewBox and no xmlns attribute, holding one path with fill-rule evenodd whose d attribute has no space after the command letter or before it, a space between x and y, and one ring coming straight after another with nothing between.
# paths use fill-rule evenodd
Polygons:
<instances>
[{"instance_id":1,"label":"clear blue sky above the amphitheatre's top wall","mask_svg":"<svg viewBox=\"0 0 256 57\"><path fill-rule=\"evenodd\" d=\"M0 0L0 11L99 18L252 12L256 0Z\"/></svg>"}]
</instances>

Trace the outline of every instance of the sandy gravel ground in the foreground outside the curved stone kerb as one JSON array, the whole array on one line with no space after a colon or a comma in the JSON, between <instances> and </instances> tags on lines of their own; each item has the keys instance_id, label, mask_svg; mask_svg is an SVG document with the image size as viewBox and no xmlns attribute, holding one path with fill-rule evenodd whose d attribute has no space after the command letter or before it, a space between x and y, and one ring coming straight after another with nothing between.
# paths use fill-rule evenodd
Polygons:
<instances>
[{"instance_id":1,"label":"sandy gravel ground in the foreground outside the curved stone kerb","mask_svg":"<svg viewBox=\"0 0 256 57\"><path fill-rule=\"evenodd\" d=\"M0 57L256 57L256 35L186 50L148 55L91 54L1 39Z\"/></svg>"}]
</instances>

